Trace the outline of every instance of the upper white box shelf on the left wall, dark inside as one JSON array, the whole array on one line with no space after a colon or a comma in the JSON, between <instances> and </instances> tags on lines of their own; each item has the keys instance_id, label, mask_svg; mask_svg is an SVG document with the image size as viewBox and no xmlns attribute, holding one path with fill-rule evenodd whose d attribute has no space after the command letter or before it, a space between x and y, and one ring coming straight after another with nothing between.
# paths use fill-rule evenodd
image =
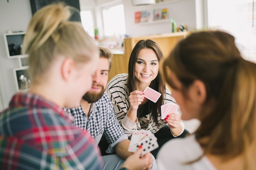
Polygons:
<instances>
[{"instance_id":1,"label":"upper white box shelf on the left wall, dark inside","mask_svg":"<svg viewBox=\"0 0 256 170\"><path fill-rule=\"evenodd\" d=\"M8 58L26 57L27 55L22 55L22 42L25 36L25 32L16 33L5 33L4 41L7 51Z\"/></svg>"}]
</instances>

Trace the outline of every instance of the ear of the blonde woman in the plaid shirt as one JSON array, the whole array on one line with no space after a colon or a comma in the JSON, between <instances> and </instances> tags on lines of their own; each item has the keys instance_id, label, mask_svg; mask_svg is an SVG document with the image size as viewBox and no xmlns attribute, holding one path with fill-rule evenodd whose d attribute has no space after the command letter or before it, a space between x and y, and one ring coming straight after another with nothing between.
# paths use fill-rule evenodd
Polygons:
<instances>
[{"instance_id":1,"label":"ear of the blonde woman in the plaid shirt","mask_svg":"<svg viewBox=\"0 0 256 170\"><path fill-rule=\"evenodd\" d=\"M70 58L65 58L61 64L61 76L64 80L68 80L74 71L75 63Z\"/></svg>"}]
</instances>

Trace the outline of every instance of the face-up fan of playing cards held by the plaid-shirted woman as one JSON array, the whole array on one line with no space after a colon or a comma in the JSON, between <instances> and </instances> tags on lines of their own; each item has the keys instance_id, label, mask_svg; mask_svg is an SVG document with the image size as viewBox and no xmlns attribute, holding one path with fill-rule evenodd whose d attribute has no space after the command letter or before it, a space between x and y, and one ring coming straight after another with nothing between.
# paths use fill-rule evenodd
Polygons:
<instances>
[{"instance_id":1,"label":"face-up fan of playing cards held by the plaid-shirted woman","mask_svg":"<svg viewBox=\"0 0 256 170\"><path fill-rule=\"evenodd\" d=\"M140 145L143 146L143 151L141 153L141 156L143 156L155 148L158 148L157 138L149 130L135 130L132 133L128 151L136 152Z\"/></svg>"}]
</instances>

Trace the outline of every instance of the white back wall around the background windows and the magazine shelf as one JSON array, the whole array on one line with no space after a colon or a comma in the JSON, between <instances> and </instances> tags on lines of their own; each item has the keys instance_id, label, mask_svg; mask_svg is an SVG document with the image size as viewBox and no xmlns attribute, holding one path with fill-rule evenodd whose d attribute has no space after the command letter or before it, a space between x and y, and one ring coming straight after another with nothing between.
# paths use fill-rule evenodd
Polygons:
<instances>
[{"instance_id":1,"label":"white back wall around the background windows and the magazine shelf","mask_svg":"<svg viewBox=\"0 0 256 170\"><path fill-rule=\"evenodd\" d=\"M94 7L97 18L97 28L99 34L103 32L101 20L101 7L103 5L113 4L115 2L124 4L124 15L126 20L126 34L130 37L153 35L159 33L170 33L171 22L162 22L157 24L135 24L135 12L146 9L168 8L169 18L174 17L177 26L186 24L188 30L202 29L204 26L204 0L171 0L168 3L159 3L153 5L132 6L131 0L80 0L81 9ZM101 37L101 36L100 36Z\"/></svg>"}]
</instances>

